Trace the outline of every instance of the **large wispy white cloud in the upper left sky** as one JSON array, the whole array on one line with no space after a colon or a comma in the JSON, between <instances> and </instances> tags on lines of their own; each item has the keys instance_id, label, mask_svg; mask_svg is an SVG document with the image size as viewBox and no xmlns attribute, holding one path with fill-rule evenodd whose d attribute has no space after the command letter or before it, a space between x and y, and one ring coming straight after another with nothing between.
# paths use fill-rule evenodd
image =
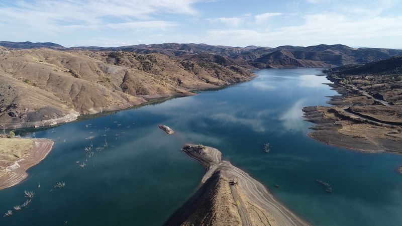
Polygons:
<instances>
[{"instance_id":1,"label":"large wispy white cloud in the upper left sky","mask_svg":"<svg viewBox=\"0 0 402 226\"><path fill-rule=\"evenodd\" d=\"M10 6L0 5L0 29L25 37L30 37L30 33L57 36L77 29L165 29L176 23L152 20L155 15L196 15L193 4L199 1L23 0Z\"/></svg>"}]
</instances>

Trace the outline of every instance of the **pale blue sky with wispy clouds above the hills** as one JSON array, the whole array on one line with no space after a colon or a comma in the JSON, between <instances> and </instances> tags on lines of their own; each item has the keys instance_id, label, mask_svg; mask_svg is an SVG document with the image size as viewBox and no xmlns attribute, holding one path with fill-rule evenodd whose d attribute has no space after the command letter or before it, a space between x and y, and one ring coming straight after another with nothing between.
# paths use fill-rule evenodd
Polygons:
<instances>
[{"instance_id":1,"label":"pale blue sky with wispy clouds above the hills","mask_svg":"<svg viewBox=\"0 0 402 226\"><path fill-rule=\"evenodd\" d=\"M0 0L0 40L402 48L402 0Z\"/></svg>"}]
</instances>

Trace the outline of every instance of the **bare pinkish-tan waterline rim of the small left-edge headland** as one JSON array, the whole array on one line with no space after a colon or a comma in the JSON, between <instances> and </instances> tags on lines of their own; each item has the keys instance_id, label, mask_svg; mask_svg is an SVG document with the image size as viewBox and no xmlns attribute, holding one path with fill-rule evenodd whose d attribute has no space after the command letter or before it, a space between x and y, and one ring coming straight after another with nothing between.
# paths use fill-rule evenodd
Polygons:
<instances>
[{"instance_id":1,"label":"bare pinkish-tan waterline rim of the small left-edge headland","mask_svg":"<svg viewBox=\"0 0 402 226\"><path fill-rule=\"evenodd\" d=\"M14 186L28 177L27 169L42 161L52 150L53 141L49 139L32 139L33 147L27 155L18 161L10 162L3 167L4 172L0 176L0 189Z\"/></svg>"}]
</instances>

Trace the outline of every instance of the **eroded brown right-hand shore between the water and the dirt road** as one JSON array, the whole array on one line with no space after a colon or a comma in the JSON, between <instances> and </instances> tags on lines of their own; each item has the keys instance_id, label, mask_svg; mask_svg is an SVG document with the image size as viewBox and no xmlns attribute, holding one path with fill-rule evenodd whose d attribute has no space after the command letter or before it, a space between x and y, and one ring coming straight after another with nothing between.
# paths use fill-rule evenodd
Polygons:
<instances>
[{"instance_id":1,"label":"eroded brown right-hand shore between the water and the dirt road","mask_svg":"<svg viewBox=\"0 0 402 226\"><path fill-rule=\"evenodd\" d=\"M402 122L384 119L386 112L395 106L376 99L363 88L345 85L335 76L332 73L326 76L333 82L328 85L339 94L329 96L327 103L331 105L303 108L304 120L315 124L310 127L314 131L309 132L308 136L353 151L402 154L402 139L398 132ZM370 109L380 113L373 115Z\"/></svg>"}]
</instances>

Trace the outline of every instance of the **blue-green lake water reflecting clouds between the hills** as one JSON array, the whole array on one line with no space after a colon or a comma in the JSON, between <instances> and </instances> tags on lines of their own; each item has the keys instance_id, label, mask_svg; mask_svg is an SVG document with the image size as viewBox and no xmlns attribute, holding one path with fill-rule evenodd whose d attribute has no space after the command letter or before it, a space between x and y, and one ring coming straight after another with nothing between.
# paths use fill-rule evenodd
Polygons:
<instances>
[{"instance_id":1,"label":"blue-green lake water reflecting clouds between the hills","mask_svg":"<svg viewBox=\"0 0 402 226\"><path fill-rule=\"evenodd\" d=\"M303 121L303 106L326 105L326 96L336 95L319 70L255 73L254 80L224 89L37 131L37 138L54 139L54 148L23 183L0 191L0 211L24 202L24 190L36 195L28 208L0 217L0 225L162 225L204 174L179 151L185 143L218 148L313 224L401 225L396 168L402 156L345 150L307 136L312 124ZM105 140L108 147L95 150ZM84 150L91 142L93 156ZM54 189L58 181L66 186Z\"/></svg>"}]
</instances>

